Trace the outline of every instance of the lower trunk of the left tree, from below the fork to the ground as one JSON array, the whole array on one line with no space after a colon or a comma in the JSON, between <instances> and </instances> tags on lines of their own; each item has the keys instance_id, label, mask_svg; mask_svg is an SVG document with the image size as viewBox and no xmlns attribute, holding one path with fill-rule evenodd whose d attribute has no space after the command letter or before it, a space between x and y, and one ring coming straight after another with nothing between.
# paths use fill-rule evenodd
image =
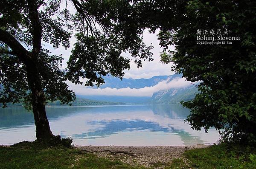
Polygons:
<instances>
[{"instance_id":1,"label":"lower trunk of the left tree, from below the fork to the ground","mask_svg":"<svg viewBox=\"0 0 256 169\"><path fill-rule=\"evenodd\" d=\"M41 85L36 62L30 61L26 65L28 85L32 93L32 107L35 119L37 140L49 140L55 137L49 126L45 111L45 95Z\"/></svg>"}]
</instances>

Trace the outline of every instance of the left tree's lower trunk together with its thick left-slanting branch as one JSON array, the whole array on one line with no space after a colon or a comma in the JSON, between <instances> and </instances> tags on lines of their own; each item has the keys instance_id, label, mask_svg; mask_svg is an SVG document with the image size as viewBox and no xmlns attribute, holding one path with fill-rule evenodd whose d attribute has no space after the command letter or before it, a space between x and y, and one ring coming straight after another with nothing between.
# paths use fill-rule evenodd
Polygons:
<instances>
[{"instance_id":1,"label":"left tree's lower trunk together with its thick left-slanting branch","mask_svg":"<svg viewBox=\"0 0 256 169\"><path fill-rule=\"evenodd\" d=\"M45 111L45 96L41 79L37 68L38 50L32 52L26 49L7 31L0 29L0 41L12 48L13 54L19 57L20 61L26 65L27 81L32 94L32 107L35 119L35 132L38 140L49 140L55 137L49 127Z\"/></svg>"}]
</instances>

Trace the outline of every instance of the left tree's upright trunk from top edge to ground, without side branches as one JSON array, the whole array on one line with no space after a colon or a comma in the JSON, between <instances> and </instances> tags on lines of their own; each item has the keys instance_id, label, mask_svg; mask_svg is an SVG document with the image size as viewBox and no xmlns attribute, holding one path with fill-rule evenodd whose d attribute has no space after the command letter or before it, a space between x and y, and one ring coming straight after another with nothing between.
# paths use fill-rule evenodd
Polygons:
<instances>
[{"instance_id":1,"label":"left tree's upright trunk from top edge to ground, without side branches","mask_svg":"<svg viewBox=\"0 0 256 169\"><path fill-rule=\"evenodd\" d=\"M27 80L32 94L32 107L35 119L35 133L37 140L49 140L54 138L49 126L45 111L45 95L38 72L38 56L41 51L42 26L39 20L38 5L35 0L28 0L29 20L31 21L31 33L33 49L27 60ZM60 139L60 137L58 137Z\"/></svg>"}]
</instances>

